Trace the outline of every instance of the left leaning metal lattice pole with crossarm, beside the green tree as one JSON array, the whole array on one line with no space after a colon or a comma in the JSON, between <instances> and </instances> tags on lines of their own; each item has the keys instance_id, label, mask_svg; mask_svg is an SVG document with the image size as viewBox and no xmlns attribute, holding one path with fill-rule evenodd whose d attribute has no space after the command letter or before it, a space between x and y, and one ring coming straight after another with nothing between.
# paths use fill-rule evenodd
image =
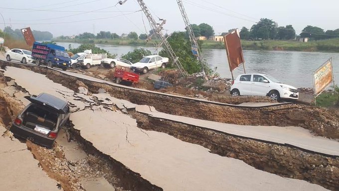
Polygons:
<instances>
[{"instance_id":1,"label":"left leaning metal lattice pole with crossarm, beside the green tree","mask_svg":"<svg viewBox=\"0 0 339 191\"><path fill-rule=\"evenodd\" d=\"M157 33L159 35L159 37L162 39L163 44L164 44L164 49L169 53L170 58L173 60L173 63L176 65L176 67L179 69L180 73L186 77L188 74L185 71L185 69L182 67L178 57L175 55L172 47L170 47L169 42L167 41L165 35L162 32L163 29L163 25L166 23L165 19L160 19L162 21L162 23L157 23L156 20L153 18L150 10L147 8L146 4L144 3L144 0L137 0L140 7L142 8L142 10L144 11L147 19L150 22L151 28L153 29L154 33ZM125 3L125 1L123 1L122 3ZM121 3L120 3L121 4ZM151 35L152 36L152 35ZM151 37L150 36L150 37ZM149 37L149 38L150 38Z\"/></svg>"}]
</instances>

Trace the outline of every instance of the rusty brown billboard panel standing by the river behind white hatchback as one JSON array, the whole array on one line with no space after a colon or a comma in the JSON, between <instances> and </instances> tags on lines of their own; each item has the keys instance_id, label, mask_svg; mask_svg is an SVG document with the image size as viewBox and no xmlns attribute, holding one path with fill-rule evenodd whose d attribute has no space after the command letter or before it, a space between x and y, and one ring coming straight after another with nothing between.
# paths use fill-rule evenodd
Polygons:
<instances>
[{"instance_id":1,"label":"rusty brown billboard panel standing by the river behind white hatchback","mask_svg":"<svg viewBox=\"0 0 339 191\"><path fill-rule=\"evenodd\" d=\"M224 43L229 69L230 71L233 71L235 68L239 67L241 64L245 62L242 53L239 30L236 29L226 34L224 36Z\"/></svg>"}]
</instances>

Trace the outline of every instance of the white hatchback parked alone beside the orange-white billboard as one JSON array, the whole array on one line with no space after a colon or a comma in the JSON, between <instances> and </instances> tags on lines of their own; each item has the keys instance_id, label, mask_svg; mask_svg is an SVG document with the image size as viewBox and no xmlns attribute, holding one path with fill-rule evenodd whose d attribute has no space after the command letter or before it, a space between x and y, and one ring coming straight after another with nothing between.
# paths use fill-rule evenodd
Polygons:
<instances>
[{"instance_id":1,"label":"white hatchback parked alone beside the orange-white billboard","mask_svg":"<svg viewBox=\"0 0 339 191\"><path fill-rule=\"evenodd\" d=\"M239 75L231 86L232 96L269 96L273 100L298 99L298 89L266 74Z\"/></svg>"}]
</instances>

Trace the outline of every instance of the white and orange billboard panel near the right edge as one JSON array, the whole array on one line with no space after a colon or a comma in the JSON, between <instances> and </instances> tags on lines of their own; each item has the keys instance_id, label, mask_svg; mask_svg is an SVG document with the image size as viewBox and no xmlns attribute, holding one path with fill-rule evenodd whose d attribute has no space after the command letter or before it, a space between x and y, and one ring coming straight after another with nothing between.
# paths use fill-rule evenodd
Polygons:
<instances>
[{"instance_id":1,"label":"white and orange billboard panel near the right edge","mask_svg":"<svg viewBox=\"0 0 339 191\"><path fill-rule=\"evenodd\" d=\"M332 58L313 72L314 96L317 97L334 82Z\"/></svg>"}]
</instances>

